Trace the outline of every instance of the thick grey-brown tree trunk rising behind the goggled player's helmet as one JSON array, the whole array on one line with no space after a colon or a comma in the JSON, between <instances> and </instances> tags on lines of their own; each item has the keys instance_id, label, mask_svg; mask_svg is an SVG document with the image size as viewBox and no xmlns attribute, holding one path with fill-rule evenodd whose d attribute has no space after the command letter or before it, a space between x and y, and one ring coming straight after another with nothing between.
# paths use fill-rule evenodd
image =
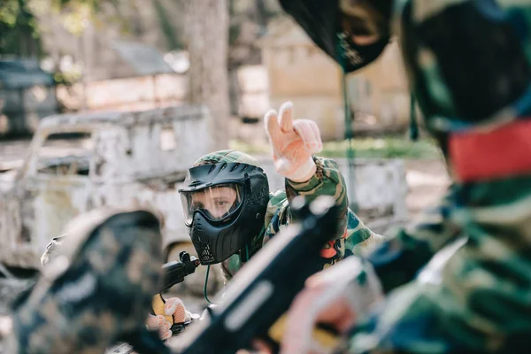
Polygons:
<instances>
[{"instance_id":1,"label":"thick grey-brown tree trunk rising behind the goggled player's helmet","mask_svg":"<svg viewBox=\"0 0 531 354\"><path fill-rule=\"evenodd\" d=\"M230 123L227 0L181 1L186 6L189 101L209 108L213 119L213 147L227 149Z\"/></svg>"}]
</instances>

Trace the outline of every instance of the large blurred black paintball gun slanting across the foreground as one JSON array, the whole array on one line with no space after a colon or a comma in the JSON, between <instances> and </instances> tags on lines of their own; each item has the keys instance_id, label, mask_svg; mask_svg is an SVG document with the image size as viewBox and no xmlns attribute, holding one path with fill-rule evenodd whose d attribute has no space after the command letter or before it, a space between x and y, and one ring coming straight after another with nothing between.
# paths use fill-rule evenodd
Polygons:
<instances>
[{"instance_id":1,"label":"large blurred black paintball gun slanting across the foreground","mask_svg":"<svg viewBox=\"0 0 531 354\"><path fill-rule=\"evenodd\" d=\"M293 207L300 222L275 235L242 267L228 285L222 304L168 343L173 352L234 353L250 349L257 338L278 350L282 315L304 288L304 281L322 269L319 252L335 237L338 227L339 207L330 196L319 196L312 204L304 204L301 197ZM319 329L321 338L336 335L325 329Z\"/></svg>"}]
</instances>

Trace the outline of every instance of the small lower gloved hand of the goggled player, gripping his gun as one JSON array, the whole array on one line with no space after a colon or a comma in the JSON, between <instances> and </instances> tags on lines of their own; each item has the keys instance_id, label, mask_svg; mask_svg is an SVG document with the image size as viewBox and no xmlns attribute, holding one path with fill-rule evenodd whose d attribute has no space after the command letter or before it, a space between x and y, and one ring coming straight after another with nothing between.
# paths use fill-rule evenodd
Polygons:
<instances>
[{"instance_id":1,"label":"small lower gloved hand of the goggled player, gripping his gun","mask_svg":"<svg viewBox=\"0 0 531 354\"><path fill-rule=\"evenodd\" d=\"M157 329L162 340L172 336L173 324L188 322L192 318L180 298L171 297L166 300L160 294L153 296L153 312L155 315L148 315L146 327L151 330Z\"/></svg>"}]
</instances>

